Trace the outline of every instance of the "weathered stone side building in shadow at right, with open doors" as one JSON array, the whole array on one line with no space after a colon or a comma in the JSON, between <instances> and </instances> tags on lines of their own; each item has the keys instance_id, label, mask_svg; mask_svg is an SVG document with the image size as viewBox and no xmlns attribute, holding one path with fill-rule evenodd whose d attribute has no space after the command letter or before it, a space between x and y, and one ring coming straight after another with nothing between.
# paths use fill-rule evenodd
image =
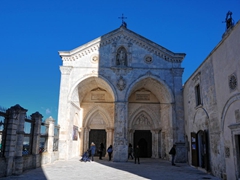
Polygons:
<instances>
[{"instance_id":1,"label":"weathered stone side building in shadow at right, with open doors","mask_svg":"<svg viewBox=\"0 0 240 180\"><path fill-rule=\"evenodd\" d=\"M189 164L240 178L240 21L184 84Z\"/></svg>"}]
</instances>

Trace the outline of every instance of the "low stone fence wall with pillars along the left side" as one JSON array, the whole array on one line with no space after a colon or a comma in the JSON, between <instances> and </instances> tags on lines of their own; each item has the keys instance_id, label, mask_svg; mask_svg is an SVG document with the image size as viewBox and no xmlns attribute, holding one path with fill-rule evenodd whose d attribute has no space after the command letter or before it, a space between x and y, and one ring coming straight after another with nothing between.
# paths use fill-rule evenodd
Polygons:
<instances>
[{"instance_id":1,"label":"low stone fence wall with pillars along the left side","mask_svg":"<svg viewBox=\"0 0 240 180\"><path fill-rule=\"evenodd\" d=\"M48 143L45 153L39 152L40 129L42 115L38 112L31 115L34 123L34 131L31 134L32 144L31 154L23 155L24 122L27 110L19 105L13 106L6 111L4 120L4 133L6 141L4 145L3 157L0 157L0 177L20 175L23 171L40 167L42 164L53 163L58 160L58 152L53 152L54 120L50 117L45 125L48 127Z\"/></svg>"}]
</instances>

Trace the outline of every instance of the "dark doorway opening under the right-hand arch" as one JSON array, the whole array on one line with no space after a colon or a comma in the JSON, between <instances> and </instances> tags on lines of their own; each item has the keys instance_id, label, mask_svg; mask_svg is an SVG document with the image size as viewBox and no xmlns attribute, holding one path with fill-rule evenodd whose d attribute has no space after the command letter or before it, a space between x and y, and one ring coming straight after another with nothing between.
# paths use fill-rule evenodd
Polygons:
<instances>
[{"instance_id":1,"label":"dark doorway opening under the right-hand arch","mask_svg":"<svg viewBox=\"0 0 240 180\"><path fill-rule=\"evenodd\" d=\"M136 130L134 132L134 148L139 145L140 157L152 157L152 133L150 130Z\"/></svg>"}]
</instances>

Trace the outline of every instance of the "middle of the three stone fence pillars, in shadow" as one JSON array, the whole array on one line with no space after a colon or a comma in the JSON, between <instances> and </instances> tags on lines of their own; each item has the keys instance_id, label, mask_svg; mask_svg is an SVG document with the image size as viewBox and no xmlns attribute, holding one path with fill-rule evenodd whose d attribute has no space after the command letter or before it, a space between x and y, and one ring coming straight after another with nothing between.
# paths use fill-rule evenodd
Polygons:
<instances>
[{"instance_id":1,"label":"middle of the three stone fence pillars, in shadow","mask_svg":"<svg viewBox=\"0 0 240 180\"><path fill-rule=\"evenodd\" d=\"M40 143L40 130L43 116L39 112L35 112L31 115L31 119L34 122L33 131L33 144L32 144L32 155L33 155L33 167L40 167L40 155L39 155L39 143Z\"/></svg>"}]
</instances>

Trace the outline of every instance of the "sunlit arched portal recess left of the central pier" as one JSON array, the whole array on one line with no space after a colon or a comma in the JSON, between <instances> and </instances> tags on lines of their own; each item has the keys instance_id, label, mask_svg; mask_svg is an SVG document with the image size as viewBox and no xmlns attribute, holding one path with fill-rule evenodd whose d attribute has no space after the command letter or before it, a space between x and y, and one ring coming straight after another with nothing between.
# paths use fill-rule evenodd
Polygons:
<instances>
[{"instance_id":1,"label":"sunlit arched portal recess left of the central pier","mask_svg":"<svg viewBox=\"0 0 240 180\"><path fill-rule=\"evenodd\" d=\"M102 78L90 77L78 85L79 103L82 111L82 144L80 151L89 149L94 142L106 148L113 143L114 93L111 86ZM96 155L98 155L96 151Z\"/></svg>"}]
</instances>

